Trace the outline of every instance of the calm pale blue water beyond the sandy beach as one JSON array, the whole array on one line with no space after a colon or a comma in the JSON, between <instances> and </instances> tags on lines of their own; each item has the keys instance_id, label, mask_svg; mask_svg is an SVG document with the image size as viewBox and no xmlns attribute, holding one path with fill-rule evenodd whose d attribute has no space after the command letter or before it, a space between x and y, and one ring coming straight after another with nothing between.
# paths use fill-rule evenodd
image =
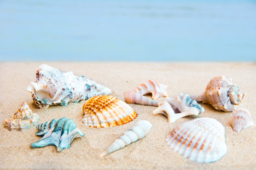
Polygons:
<instances>
[{"instance_id":1,"label":"calm pale blue water beyond the sandy beach","mask_svg":"<svg viewBox=\"0 0 256 170\"><path fill-rule=\"evenodd\" d=\"M256 61L256 1L0 0L0 61Z\"/></svg>"}]
</instances>

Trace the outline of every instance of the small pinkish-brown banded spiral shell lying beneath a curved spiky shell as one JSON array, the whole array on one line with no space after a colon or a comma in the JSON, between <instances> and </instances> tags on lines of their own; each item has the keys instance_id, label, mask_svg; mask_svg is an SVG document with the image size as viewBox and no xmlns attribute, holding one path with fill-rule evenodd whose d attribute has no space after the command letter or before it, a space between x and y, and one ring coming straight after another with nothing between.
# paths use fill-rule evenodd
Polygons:
<instances>
[{"instance_id":1,"label":"small pinkish-brown banded spiral shell lying beneath a curved spiky shell","mask_svg":"<svg viewBox=\"0 0 256 170\"><path fill-rule=\"evenodd\" d=\"M147 98L141 94L135 94L132 91L126 91L123 93L126 103L135 103L145 106L158 106L159 102Z\"/></svg>"}]
</instances>

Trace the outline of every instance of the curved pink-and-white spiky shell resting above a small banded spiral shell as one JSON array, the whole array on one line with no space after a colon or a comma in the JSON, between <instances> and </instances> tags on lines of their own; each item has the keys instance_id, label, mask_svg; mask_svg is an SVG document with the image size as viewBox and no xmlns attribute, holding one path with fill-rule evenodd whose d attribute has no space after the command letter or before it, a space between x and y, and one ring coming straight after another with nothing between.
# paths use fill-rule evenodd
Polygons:
<instances>
[{"instance_id":1,"label":"curved pink-and-white spiky shell resting above a small banded spiral shell","mask_svg":"<svg viewBox=\"0 0 256 170\"><path fill-rule=\"evenodd\" d=\"M167 85L160 84L155 80L148 80L145 84L140 84L140 86L133 89L133 93L135 94L152 94L152 99L155 100L159 97L167 97Z\"/></svg>"}]
</instances>

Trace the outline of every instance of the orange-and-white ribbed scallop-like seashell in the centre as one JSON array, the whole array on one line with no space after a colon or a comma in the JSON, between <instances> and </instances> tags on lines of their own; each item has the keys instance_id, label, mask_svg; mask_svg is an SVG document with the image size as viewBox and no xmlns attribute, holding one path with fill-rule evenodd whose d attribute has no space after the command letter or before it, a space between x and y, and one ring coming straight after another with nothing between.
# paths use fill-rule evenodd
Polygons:
<instances>
[{"instance_id":1,"label":"orange-and-white ribbed scallop-like seashell in the centre","mask_svg":"<svg viewBox=\"0 0 256 170\"><path fill-rule=\"evenodd\" d=\"M114 127L129 123L137 113L127 103L113 96L94 96L83 106L84 125L94 128Z\"/></svg>"}]
</instances>

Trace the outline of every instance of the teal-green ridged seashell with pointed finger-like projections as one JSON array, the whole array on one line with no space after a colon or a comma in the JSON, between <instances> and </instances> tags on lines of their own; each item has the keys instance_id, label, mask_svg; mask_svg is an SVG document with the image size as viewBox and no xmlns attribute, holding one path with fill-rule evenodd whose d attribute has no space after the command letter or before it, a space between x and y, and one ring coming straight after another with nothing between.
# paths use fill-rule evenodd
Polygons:
<instances>
[{"instance_id":1,"label":"teal-green ridged seashell with pointed finger-like projections","mask_svg":"<svg viewBox=\"0 0 256 170\"><path fill-rule=\"evenodd\" d=\"M43 135L43 137L38 142L32 143L32 148L55 145L57 152L61 152L62 149L70 147L72 140L74 140L77 134L84 136L84 133L77 128L74 120L65 117L60 120L53 119L46 123L41 123L37 128L38 132L35 135Z\"/></svg>"}]
</instances>

